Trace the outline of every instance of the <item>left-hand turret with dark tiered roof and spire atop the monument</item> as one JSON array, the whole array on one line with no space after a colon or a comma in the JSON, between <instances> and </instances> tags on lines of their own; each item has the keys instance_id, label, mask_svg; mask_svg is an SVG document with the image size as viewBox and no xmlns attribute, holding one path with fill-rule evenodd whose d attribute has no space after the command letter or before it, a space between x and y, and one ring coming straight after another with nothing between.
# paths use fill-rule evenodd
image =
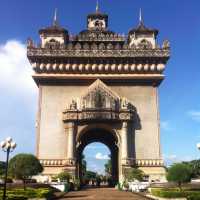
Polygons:
<instances>
[{"instance_id":1,"label":"left-hand turret with dark tiered roof and spire atop the monument","mask_svg":"<svg viewBox=\"0 0 200 200\"><path fill-rule=\"evenodd\" d=\"M62 28L57 19L57 9L55 10L52 26L39 30L42 48L56 49L66 44L69 39L68 31Z\"/></svg>"}]
</instances>

